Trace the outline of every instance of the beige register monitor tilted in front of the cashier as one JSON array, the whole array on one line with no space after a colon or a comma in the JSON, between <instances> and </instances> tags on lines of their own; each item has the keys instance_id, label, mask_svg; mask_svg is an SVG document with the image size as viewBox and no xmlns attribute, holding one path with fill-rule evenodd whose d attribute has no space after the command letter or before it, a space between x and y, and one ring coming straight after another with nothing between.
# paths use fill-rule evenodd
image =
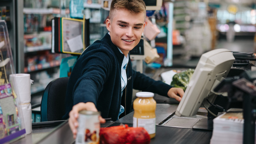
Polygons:
<instances>
[{"instance_id":1,"label":"beige register monitor tilted in front of the cashier","mask_svg":"<svg viewBox=\"0 0 256 144\"><path fill-rule=\"evenodd\" d=\"M216 49L202 54L195 72L188 84L175 115L190 117L196 115L200 106L210 107L216 99L213 89L227 77L235 58L227 49Z\"/></svg>"}]
</instances>

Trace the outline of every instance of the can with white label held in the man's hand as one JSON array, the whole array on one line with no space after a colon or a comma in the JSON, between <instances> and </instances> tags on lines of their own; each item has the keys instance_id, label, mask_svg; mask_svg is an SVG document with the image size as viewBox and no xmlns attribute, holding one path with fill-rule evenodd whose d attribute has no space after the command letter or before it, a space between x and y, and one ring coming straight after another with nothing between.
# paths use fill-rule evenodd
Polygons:
<instances>
[{"instance_id":1,"label":"can with white label held in the man's hand","mask_svg":"<svg viewBox=\"0 0 256 144\"><path fill-rule=\"evenodd\" d=\"M75 144L100 144L101 112L79 111Z\"/></svg>"}]
</instances>

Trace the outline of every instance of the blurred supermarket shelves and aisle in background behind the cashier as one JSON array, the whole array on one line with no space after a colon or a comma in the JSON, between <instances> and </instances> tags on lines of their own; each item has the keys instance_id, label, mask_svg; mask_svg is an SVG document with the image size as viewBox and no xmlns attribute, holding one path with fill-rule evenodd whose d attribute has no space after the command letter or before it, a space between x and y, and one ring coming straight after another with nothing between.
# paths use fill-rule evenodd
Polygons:
<instances>
[{"instance_id":1,"label":"blurred supermarket shelves and aisle in background behind the cashier","mask_svg":"<svg viewBox=\"0 0 256 144\"><path fill-rule=\"evenodd\" d=\"M69 1L0 0L0 19L7 22L16 72L29 73L34 80L32 107L40 103L47 84L60 77L62 59L73 56L51 53L52 19L70 17ZM174 6L171 25L170 2ZM105 20L109 11L101 8L101 0L84 0L83 7L85 17L90 18L92 44L108 32ZM143 64L143 73L148 76L166 66L170 35L172 65L176 67L195 67L201 54L218 48L256 52L256 0L163 0L161 10L147 11L147 16L161 31L153 41L155 46L151 45L160 58ZM172 33L168 33L170 26ZM133 64L136 69L136 61Z\"/></svg>"}]
</instances>

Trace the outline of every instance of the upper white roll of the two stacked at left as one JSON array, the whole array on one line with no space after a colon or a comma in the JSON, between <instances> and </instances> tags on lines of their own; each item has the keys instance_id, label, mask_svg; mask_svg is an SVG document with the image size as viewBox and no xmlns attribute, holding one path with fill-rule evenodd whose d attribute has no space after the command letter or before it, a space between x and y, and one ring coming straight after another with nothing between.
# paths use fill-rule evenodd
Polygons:
<instances>
[{"instance_id":1,"label":"upper white roll of the two stacked at left","mask_svg":"<svg viewBox=\"0 0 256 144\"><path fill-rule=\"evenodd\" d=\"M18 73L10 75L10 83L15 85L21 104L27 104L31 101L31 83L30 74Z\"/></svg>"}]
</instances>

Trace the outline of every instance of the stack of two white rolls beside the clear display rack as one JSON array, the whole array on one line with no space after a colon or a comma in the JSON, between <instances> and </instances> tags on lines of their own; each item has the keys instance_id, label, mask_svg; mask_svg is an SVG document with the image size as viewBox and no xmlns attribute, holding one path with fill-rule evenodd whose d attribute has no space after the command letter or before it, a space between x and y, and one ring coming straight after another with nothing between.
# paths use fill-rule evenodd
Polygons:
<instances>
[{"instance_id":1,"label":"stack of two white rolls beside the clear display rack","mask_svg":"<svg viewBox=\"0 0 256 144\"><path fill-rule=\"evenodd\" d=\"M22 115L25 124L26 134L32 132L32 110L31 110L31 80L30 74L18 73L10 75L10 83L15 85L17 96L20 99Z\"/></svg>"}]
</instances>

